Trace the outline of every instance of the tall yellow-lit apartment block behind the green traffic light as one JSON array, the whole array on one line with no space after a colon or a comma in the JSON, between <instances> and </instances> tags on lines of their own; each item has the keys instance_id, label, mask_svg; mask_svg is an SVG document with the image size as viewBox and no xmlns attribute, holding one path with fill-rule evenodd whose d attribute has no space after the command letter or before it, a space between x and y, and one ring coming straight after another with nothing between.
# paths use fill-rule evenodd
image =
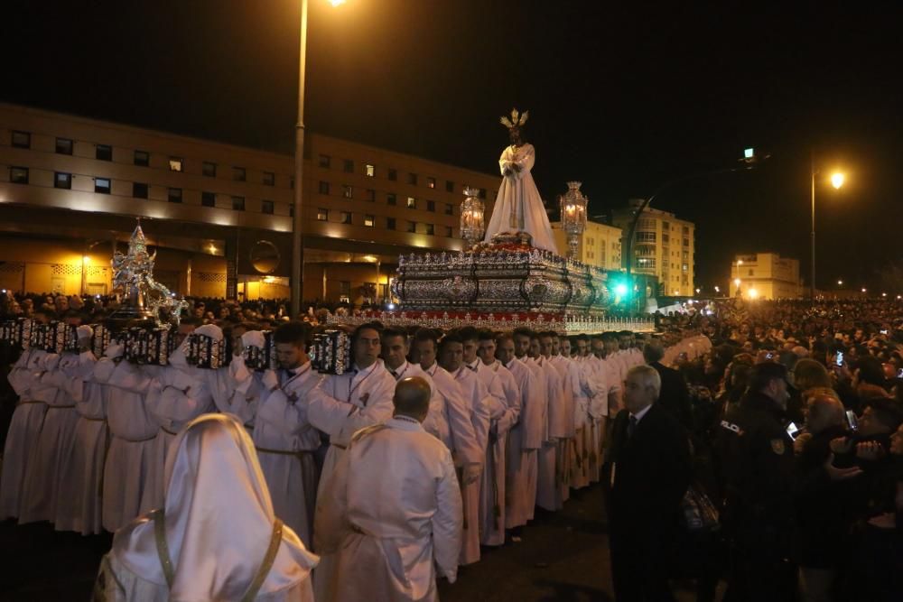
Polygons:
<instances>
[{"instance_id":1,"label":"tall yellow-lit apartment block behind the green traffic light","mask_svg":"<svg viewBox=\"0 0 903 602\"><path fill-rule=\"evenodd\" d=\"M624 231L636 216L642 199L631 199L627 208L616 209L612 223ZM654 275L659 293L665 296L693 296L695 273L695 229L693 222L661 209L645 208L637 222L630 271ZM626 247L626 245L622 245Z\"/></svg>"}]
</instances>

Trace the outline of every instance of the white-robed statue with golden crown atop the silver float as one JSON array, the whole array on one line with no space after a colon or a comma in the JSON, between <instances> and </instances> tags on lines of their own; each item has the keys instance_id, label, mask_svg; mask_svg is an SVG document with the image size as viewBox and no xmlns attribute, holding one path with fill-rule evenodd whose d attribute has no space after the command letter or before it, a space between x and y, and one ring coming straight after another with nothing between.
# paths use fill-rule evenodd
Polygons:
<instances>
[{"instance_id":1,"label":"white-robed statue with golden crown atop the silver float","mask_svg":"<svg viewBox=\"0 0 903 602\"><path fill-rule=\"evenodd\" d=\"M518 113L517 109L512 109L510 119L507 116L501 118L501 124L508 129L511 145L498 159L502 183L483 240L491 243L526 238L537 249L558 253L543 199L530 175L535 149L533 144L525 144L521 139L521 128L528 116L528 111ZM529 236L524 236L525 233Z\"/></svg>"}]
</instances>

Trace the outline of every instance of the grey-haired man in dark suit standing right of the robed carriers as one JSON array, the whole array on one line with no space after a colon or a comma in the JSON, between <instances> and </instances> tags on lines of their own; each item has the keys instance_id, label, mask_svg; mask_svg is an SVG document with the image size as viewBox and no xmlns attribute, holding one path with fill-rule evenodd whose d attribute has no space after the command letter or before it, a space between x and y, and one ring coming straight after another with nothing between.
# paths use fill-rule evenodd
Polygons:
<instances>
[{"instance_id":1,"label":"grey-haired man in dark suit standing right of the robed carriers","mask_svg":"<svg viewBox=\"0 0 903 602\"><path fill-rule=\"evenodd\" d=\"M631 368L625 409L612 428L606 482L611 573L619 601L674 599L667 550L690 485L690 446L684 428L656 403L660 390L655 368Z\"/></svg>"}]
</instances>

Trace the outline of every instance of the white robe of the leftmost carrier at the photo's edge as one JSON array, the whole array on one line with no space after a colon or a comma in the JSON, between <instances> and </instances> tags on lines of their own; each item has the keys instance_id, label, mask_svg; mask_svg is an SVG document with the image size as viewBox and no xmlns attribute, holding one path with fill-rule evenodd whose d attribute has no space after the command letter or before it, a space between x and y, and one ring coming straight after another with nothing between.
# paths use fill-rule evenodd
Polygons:
<instances>
[{"instance_id":1,"label":"white robe of the leftmost carrier at the photo's edge","mask_svg":"<svg viewBox=\"0 0 903 602\"><path fill-rule=\"evenodd\" d=\"M25 350L9 373L9 383L15 394L19 395L19 403L15 406L4 446L3 470L0 471L0 520L18 517L22 511L25 474L29 459L34 456L47 412L47 403L39 393L37 376L46 356L46 351Z\"/></svg>"}]
</instances>

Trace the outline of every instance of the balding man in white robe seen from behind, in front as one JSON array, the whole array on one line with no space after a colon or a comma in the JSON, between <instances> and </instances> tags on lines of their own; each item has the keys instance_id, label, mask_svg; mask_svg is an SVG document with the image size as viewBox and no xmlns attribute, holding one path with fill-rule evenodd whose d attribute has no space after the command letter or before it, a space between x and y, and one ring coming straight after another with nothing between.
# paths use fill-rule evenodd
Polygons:
<instances>
[{"instance_id":1,"label":"balding man in white robe seen from behind, in front","mask_svg":"<svg viewBox=\"0 0 903 602\"><path fill-rule=\"evenodd\" d=\"M452 454L421 426L430 394L406 378L392 418L349 441L317 511L317 548L340 572L317 602L432 602L437 570L457 579L461 492Z\"/></svg>"}]
</instances>

